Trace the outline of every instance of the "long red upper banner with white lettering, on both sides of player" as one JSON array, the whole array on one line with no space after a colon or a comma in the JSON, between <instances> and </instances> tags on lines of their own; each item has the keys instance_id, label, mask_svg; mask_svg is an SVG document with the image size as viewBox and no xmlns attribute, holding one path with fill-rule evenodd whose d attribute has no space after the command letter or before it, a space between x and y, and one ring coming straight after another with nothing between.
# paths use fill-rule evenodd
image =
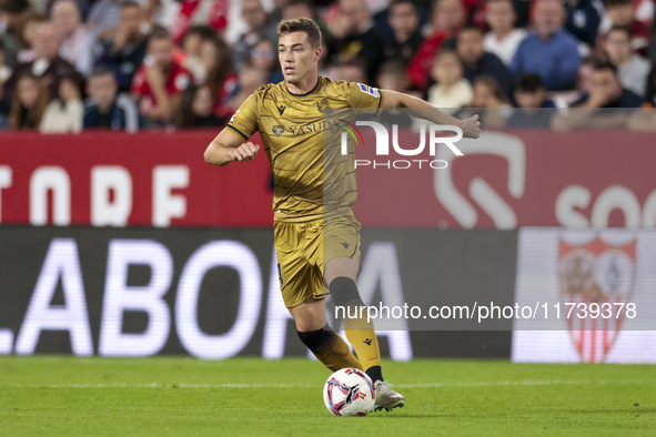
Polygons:
<instances>
[{"instance_id":1,"label":"long red upper banner with white lettering, on both sides of player","mask_svg":"<svg viewBox=\"0 0 656 437\"><path fill-rule=\"evenodd\" d=\"M484 131L478 140L457 143L466 159L441 144L435 157L447 161L446 169L425 163L420 169L408 156L412 167L391 170L394 163L370 146L371 129L361 130L366 145L357 146L356 157L370 164L357 167L355 215L365 227L656 226L656 149L649 133ZM413 131L398 135L407 149L418 143ZM0 221L271 226L266 160L216 170L203 162L213 136L3 133L3 144L20 146L2 148ZM253 141L260 143L259 134Z\"/></svg>"}]
</instances>

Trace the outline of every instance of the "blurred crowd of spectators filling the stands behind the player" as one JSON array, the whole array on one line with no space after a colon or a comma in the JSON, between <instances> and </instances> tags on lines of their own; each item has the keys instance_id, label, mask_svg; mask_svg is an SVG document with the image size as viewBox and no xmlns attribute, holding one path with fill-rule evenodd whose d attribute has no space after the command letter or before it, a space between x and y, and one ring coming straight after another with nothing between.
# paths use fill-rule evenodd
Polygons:
<instances>
[{"instance_id":1,"label":"blurred crowd of spectators filling the stands behind the player","mask_svg":"<svg viewBox=\"0 0 656 437\"><path fill-rule=\"evenodd\" d=\"M0 0L0 129L220 128L283 80L276 26L314 19L320 74L462 108L656 103L654 0ZM523 125L548 125L526 112ZM543 120L544 119L544 120Z\"/></svg>"}]
</instances>

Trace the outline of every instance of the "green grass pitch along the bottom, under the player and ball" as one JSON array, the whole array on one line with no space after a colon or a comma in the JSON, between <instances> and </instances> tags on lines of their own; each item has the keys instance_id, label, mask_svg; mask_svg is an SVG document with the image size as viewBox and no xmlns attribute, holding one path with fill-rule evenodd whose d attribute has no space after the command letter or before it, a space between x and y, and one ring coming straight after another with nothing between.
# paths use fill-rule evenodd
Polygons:
<instances>
[{"instance_id":1,"label":"green grass pitch along the bottom, under the player and ball","mask_svg":"<svg viewBox=\"0 0 656 437\"><path fill-rule=\"evenodd\" d=\"M656 436L656 367L385 362L405 408L334 417L316 362L0 357L0 436Z\"/></svg>"}]
</instances>

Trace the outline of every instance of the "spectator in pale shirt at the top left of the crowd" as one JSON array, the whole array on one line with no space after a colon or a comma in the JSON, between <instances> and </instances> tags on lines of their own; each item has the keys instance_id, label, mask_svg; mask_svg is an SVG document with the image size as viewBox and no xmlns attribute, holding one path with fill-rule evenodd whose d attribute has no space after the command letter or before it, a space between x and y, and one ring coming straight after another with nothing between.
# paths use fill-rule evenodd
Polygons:
<instances>
[{"instance_id":1,"label":"spectator in pale shirt at the top left of the crowd","mask_svg":"<svg viewBox=\"0 0 656 437\"><path fill-rule=\"evenodd\" d=\"M59 54L87 77L93 68L95 37L81 20L74 0L57 0L52 6L52 24L61 40Z\"/></svg>"}]
</instances>

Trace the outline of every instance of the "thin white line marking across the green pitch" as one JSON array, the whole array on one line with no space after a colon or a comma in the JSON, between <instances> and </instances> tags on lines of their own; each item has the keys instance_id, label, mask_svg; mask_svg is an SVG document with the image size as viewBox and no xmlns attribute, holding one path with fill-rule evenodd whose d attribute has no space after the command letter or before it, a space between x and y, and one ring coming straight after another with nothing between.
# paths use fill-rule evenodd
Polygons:
<instances>
[{"instance_id":1,"label":"thin white line marking across the green pitch","mask_svg":"<svg viewBox=\"0 0 656 437\"><path fill-rule=\"evenodd\" d=\"M394 384L395 387L485 387L485 386L522 386L522 385L584 385L593 384L587 380L497 380L488 383L453 383L453 384ZM605 383L594 383L605 384ZM313 384L173 384L180 388L312 388ZM154 388L171 387L171 385L151 384L8 384L6 387L49 387L49 388Z\"/></svg>"}]
</instances>

